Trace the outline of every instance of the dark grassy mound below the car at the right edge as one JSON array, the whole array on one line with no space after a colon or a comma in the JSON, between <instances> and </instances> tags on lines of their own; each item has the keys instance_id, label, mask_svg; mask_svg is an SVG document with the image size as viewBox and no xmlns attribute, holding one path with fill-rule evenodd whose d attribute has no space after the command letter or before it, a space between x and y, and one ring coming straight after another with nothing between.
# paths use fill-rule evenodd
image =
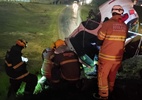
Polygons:
<instances>
[{"instance_id":1,"label":"dark grassy mound below the car at the right edge","mask_svg":"<svg viewBox=\"0 0 142 100\"><path fill-rule=\"evenodd\" d=\"M134 56L122 62L122 68L117 74L117 78L140 79L142 70L142 55Z\"/></svg>"}]
</instances>

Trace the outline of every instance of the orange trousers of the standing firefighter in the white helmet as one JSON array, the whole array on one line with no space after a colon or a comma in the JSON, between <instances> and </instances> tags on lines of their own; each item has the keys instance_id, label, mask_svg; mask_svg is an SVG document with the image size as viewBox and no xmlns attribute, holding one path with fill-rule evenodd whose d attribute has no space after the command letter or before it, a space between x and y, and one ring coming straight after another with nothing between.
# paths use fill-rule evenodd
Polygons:
<instances>
[{"instance_id":1,"label":"orange trousers of the standing firefighter in the white helmet","mask_svg":"<svg viewBox=\"0 0 142 100\"><path fill-rule=\"evenodd\" d=\"M107 97L109 90L113 90L116 73L119 67L120 62L118 61L99 60L98 87L100 96Z\"/></svg>"}]
</instances>

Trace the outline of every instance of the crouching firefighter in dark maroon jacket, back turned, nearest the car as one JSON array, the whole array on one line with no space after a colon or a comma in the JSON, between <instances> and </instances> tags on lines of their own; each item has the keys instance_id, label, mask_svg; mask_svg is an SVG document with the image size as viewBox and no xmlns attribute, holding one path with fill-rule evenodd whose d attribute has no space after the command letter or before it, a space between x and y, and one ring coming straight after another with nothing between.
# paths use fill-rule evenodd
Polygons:
<instances>
[{"instance_id":1,"label":"crouching firefighter in dark maroon jacket, back turned, nearest the car","mask_svg":"<svg viewBox=\"0 0 142 100\"><path fill-rule=\"evenodd\" d=\"M68 49L63 40L57 40L55 47L52 59L54 66L51 71L53 86L64 91L77 89L81 75L81 63L78 56Z\"/></svg>"}]
</instances>

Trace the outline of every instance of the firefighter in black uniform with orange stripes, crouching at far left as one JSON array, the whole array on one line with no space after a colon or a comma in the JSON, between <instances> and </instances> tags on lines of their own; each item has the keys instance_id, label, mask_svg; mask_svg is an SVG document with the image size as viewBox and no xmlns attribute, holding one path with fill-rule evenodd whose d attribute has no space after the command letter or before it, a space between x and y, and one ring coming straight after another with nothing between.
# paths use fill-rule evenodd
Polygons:
<instances>
[{"instance_id":1,"label":"firefighter in black uniform with orange stripes, crouching at far left","mask_svg":"<svg viewBox=\"0 0 142 100\"><path fill-rule=\"evenodd\" d=\"M10 87L7 97L16 97L22 82L25 82L25 96L32 96L37 85L37 76L27 71L28 59L22 56L22 50L27 47L27 42L18 39L16 44L7 51L5 56L5 70L9 76Z\"/></svg>"}]
</instances>

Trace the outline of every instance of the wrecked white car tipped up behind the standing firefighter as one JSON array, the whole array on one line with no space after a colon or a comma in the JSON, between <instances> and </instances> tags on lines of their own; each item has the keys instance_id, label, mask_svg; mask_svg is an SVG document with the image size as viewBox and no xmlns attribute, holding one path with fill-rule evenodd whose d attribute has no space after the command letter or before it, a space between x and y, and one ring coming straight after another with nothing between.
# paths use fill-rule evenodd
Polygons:
<instances>
[{"instance_id":1,"label":"wrecked white car tipped up behind the standing firefighter","mask_svg":"<svg viewBox=\"0 0 142 100\"><path fill-rule=\"evenodd\" d=\"M92 70L96 70L94 67L97 63L97 55L99 52L99 47L95 45L97 40L97 31L100 29L101 24L106 17L111 17L111 8L114 5L121 5L124 8L124 14L128 14L128 19L125 23L130 27L139 18L137 12L133 8L133 3L131 0L109 0L99 7L100 12L95 16L95 18L88 18L86 21L80 23L80 25L70 34L69 37L65 39L70 50L76 52L79 56L80 61L85 66L89 66ZM134 34L133 32L128 32L128 39L126 41L126 52L125 59L134 56L137 47L141 44L141 36ZM133 47L131 42L138 38L136 45ZM129 47L132 47L131 50ZM128 48L128 50L127 50ZM131 55L129 54L132 51ZM139 50L140 51L140 50ZM138 52L137 54L140 54ZM88 68L88 67L87 67Z\"/></svg>"}]
</instances>

